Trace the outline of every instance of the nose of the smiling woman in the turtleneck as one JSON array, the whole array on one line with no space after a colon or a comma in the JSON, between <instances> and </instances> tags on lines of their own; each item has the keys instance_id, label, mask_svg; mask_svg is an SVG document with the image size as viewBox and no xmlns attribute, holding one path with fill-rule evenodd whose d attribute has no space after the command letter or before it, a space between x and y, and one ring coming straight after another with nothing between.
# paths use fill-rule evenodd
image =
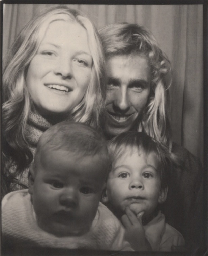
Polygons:
<instances>
[{"instance_id":1,"label":"nose of the smiling woman in the turtleneck","mask_svg":"<svg viewBox=\"0 0 208 256\"><path fill-rule=\"evenodd\" d=\"M70 60L67 57L60 57L57 60L57 65L54 68L54 73L57 76L61 76L63 79L71 79L72 66Z\"/></svg>"}]
</instances>

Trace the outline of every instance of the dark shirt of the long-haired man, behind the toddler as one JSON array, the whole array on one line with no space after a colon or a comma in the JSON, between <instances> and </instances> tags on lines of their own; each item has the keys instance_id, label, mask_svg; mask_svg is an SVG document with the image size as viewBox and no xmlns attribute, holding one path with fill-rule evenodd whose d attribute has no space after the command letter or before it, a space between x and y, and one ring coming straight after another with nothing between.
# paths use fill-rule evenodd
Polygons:
<instances>
[{"instance_id":1,"label":"dark shirt of the long-haired man, behind the toddler","mask_svg":"<svg viewBox=\"0 0 208 256\"><path fill-rule=\"evenodd\" d=\"M168 196L161 210L166 222L183 235L186 250L203 251L203 168L200 160L185 148L174 143L172 152L181 157L182 164L171 168Z\"/></svg>"}]
</instances>

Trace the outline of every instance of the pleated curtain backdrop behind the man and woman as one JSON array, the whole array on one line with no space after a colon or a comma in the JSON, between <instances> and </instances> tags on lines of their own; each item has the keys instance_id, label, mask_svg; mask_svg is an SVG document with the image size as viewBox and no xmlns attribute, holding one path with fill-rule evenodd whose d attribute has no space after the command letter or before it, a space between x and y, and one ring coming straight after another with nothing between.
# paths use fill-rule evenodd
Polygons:
<instances>
[{"instance_id":1,"label":"pleated curtain backdrop behind the man and woman","mask_svg":"<svg viewBox=\"0 0 208 256\"><path fill-rule=\"evenodd\" d=\"M3 56L35 12L48 4L4 4ZM203 5L82 5L97 29L115 22L152 31L172 63L173 141L203 162Z\"/></svg>"}]
</instances>

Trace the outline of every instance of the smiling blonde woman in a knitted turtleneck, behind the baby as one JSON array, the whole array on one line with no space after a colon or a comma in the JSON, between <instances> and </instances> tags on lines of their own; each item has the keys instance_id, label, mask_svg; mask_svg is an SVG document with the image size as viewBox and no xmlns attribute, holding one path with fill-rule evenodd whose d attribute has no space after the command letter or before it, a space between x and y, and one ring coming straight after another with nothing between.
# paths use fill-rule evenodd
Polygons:
<instances>
[{"instance_id":1,"label":"smiling blonde woman in a knitted turtleneck, behind the baby","mask_svg":"<svg viewBox=\"0 0 208 256\"><path fill-rule=\"evenodd\" d=\"M105 101L101 42L92 22L66 6L24 27L3 65L3 193L28 186L40 135L63 120L100 127Z\"/></svg>"}]
</instances>

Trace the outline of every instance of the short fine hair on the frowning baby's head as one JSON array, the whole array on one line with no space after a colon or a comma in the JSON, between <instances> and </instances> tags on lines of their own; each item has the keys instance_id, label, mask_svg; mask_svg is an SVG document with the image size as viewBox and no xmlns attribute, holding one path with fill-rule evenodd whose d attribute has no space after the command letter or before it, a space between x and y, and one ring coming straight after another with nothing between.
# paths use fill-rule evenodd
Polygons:
<instances>
[{"instance_id":1,"label":"short fine hair on the frowning baby's head","mask_svg":"<svg viewBox=\"0 0 208 256\"><path fill-rule=\"evenodd\" d=\"M107 142L103 136L89 125L79 122L60 122L42 134L37 144L33 169L44 150L70 151L83 157L99 155L107 169L110 165Z\"/></svg>"}]
</instances>

